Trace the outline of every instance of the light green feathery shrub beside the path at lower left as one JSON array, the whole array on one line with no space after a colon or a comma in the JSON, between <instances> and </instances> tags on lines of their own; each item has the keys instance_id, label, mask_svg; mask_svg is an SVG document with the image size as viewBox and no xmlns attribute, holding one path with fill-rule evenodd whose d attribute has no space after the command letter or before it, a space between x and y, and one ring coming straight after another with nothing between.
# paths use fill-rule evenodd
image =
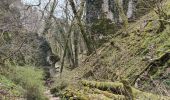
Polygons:
<instances>
[{"instance_id":1,"label":"light green feathery shrub beside the path at lower left","mask_svg":"<svg viewBox=\"0 0 170 100\"><path fill-rule=\"evenodd\" d=\"M9 66L9 73L6 76L24 90L24 97L27 100L45 100L43 70L33 66Z\"/></svg>"}]
</instances>

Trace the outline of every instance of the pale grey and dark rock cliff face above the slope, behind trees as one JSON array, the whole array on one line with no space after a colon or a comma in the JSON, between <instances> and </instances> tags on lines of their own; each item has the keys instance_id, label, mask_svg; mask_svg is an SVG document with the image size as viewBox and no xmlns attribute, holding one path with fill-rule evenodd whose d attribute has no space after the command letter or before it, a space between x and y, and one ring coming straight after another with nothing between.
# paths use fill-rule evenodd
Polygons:
<instances>
[{"instance_id":1,"label":"pale grey and dark rock cliff face above the slope, behind trees","mask_svg":"<svg viewBox=\"0 0 170 100\"><path fill-rule=\"evenodd\" d=\"M135 9L135 0L120 0L124 13L128 18L133 16ZM114 21L119 22L119 11L115 5L115 0L86 0L86 21L92 23L102 16Z\"/></svg>"}]
</instances>

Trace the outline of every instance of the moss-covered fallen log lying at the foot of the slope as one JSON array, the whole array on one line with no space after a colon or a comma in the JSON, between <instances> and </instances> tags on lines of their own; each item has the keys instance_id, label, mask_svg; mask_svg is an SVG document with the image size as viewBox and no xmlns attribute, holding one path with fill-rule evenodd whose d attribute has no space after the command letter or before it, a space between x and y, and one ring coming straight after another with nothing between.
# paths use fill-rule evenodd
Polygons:
<instances>
[{"instance_id":1,"label":"moss-covered fallen log lying at the foot of the slope","mask_svg":"<svg viewBox=\"0 0 170 100\"><path fill-rule=\"evenodd\" d=\"M96 82L96 81L86 81L86 80L83 80L81 82L84 86L88 86L90 88L97 88L99 90L109 90L112 91L113 94L124 95L128 100L137 100L137 99L138 100L139 99L140 100L170 100L170 97L142 92L138 89L135 89L121 82ZM127 94L127 92L131 92L128 93L132 95L131 99L129 99L128 97L129 95Z\"/></svg>"}]
</instances>

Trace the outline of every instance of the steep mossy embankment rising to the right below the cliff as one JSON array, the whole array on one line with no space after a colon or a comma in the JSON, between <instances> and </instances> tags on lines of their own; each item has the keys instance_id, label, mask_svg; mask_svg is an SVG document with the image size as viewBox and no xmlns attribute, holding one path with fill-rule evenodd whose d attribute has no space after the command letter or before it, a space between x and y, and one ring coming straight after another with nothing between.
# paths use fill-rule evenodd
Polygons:
<instances>
[{"instance_id":1,"label":"steep mossy embankment rising to the right below the cliff","mask_svg":"<svg viewBox=\"0 0 170 100\"><path fill-rule=\"evenodd\" d=\"M169 1L164 7L169 16ZM65 83L67 83L69 88L62 93L67 94L65 96L81 97L80 95L84 94L89 97L90 94L93 94L93 97L96 98L99 94L104 94L103 91L100 91L102 89L98 88L101 84L87 82L85 86L87 85L90 88L83 89L81 87L82 83L79 81L86 79L95 81L118 80L122 82L122 80L128 79L130 82L127 83L128 86L131 85L140 90L168 96L170 94L169 19L166 20L166 25L163 31L159 31L159 28L159 18L154 12L143 16L135 23L131 23L128 28L127 36L123 36L122 34L124 32L120 30L110 42L99 48L97 53L87 57L84 62L81 63L79 68L73 71L64 71L62 79L57 79L59 86L53 89L53 92L58 94L58 92L55 91L63 89L61 87L63 87L63 85L65 87ZM124 86L126 86L125 84ZM102 86L105 87L105 83L103 83ZM109 87L111 88L112 86ZM94 92L92 87L97 87L100 89L100 92ZM110 90L110 88L107 88L106 90ZM126 90L126 88L124 89ZM116 88L116 90L119 89ZM77 93L74 93L75 91L77 91ZM114 93L113 91L110 92ZM133 93L132 95L134 95ZM140 91L140 93L142 94L143 92ZM123 98L121 93L117 94L116 99L117 97ZM156 100L155 98L152 98L150 94L146 95L150 98L143 98L144 100ZM123 96L127 96L127 94L123 94ZM108 95L105 95L105 97L107 97L107 99L110 98ZM131 96L128 95L128 97ZM137 97L135 99L137 99ZM157 99L160 100L160 98ZM169 98L166 99L168 100Z\"/></svg>"}]
</instances>

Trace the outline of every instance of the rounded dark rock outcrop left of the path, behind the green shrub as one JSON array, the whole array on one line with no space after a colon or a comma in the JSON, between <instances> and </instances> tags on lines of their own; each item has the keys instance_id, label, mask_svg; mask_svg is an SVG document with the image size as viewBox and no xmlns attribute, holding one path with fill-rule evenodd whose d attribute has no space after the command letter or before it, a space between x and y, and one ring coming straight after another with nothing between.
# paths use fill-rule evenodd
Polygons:
<instances>
[{"instance_id":1,"label":"rounded dark rock outcrop left of the path, behind the green shrub","mask_svg":"<svg viewBox=\"0 0 170 100\"><path fill-rule=\"evenodd\" d=\"M22 39L23 36L18 35L18 38L12 40L11 50L17 49L23 43L20 50L13 55L13 59L20 65L50 66L47 56L52 51L46 39L39 37L37 33L25 33L24 35L27 38Z\"/></svg>"}]
</instances>

